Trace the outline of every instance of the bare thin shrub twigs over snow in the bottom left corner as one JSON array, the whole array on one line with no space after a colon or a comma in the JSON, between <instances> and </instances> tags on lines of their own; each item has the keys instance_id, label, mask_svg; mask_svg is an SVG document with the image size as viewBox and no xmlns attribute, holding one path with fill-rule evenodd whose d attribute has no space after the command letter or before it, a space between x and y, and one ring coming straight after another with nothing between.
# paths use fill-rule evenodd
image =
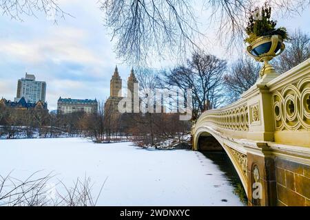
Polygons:
<instances>
[{"instance_id":1,"label":"bare thin shrub twigs over snow in the bottom left corner","mask_svg":"<svg viewBox=\"0 0 310 220\"><path fill-rule=\"evenodd\" d=\"M62 181L49 184L55 177L52 173L37 177L41 170L24 180L11 174L0 175L0 206L96 206L107 181L106 178L95 196L92 192L94 184L87 177L83 180L77 178L74 185L69 187ZM65 192L58 192L58 185L63 186ZM54 195L51 195L53 191Z\"/></svg>"}]
</instances>

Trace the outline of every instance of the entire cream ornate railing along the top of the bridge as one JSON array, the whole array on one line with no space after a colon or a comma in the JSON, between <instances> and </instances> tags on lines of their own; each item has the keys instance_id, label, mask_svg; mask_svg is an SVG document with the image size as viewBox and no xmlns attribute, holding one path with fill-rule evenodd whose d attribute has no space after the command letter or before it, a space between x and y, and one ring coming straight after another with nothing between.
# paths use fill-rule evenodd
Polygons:
<instances>
[{"instance_id":1,"label":"entire cream ornate railing along the top of the bridge","mask_svg":"<svg viewBox=\"0 0 310 220\"><path fill-rule=\"evenodd\" d=\"M193 133L200 126L236 138L310 146L310 58L258 82L234 104L205 111Z\"/></svg>"}]
</instances>

